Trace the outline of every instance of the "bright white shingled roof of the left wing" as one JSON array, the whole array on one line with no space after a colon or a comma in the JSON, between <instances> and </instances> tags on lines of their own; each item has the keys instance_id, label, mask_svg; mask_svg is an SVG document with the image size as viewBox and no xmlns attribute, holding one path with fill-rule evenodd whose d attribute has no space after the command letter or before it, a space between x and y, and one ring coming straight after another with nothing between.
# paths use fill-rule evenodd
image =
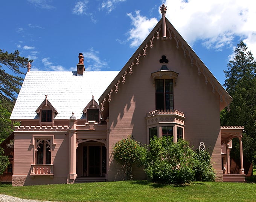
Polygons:
<instances>
[{"instance_id":1,"label":"bright white shingled roof of the left wing","mask_svg":"<svg viewBox=\"0 0 256 202\"><path fill-rule=\"evenodd\" d=\"M27 72L10 119L37 119L37 108L47 100L57 110L55 119L69 119L72 112L77 119L91 101L97 101L119 71L77 72L30 71Z\"/></svg>"}]
</instances>

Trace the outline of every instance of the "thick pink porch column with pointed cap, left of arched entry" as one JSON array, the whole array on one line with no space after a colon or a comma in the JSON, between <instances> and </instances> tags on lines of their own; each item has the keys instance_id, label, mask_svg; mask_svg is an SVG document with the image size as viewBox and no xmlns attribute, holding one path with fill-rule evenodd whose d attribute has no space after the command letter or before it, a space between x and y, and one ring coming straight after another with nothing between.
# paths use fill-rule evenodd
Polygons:
<instances>
[{"instance_id":1,"label":"thick pink porch column with pointed cap, left of arched entry","mask_svg":"<svg viewBox=\"0 0 256 202\"><path fill-rule=\"evenodd\" d=\"M72 113L69 119L69 175L68 183L73 182L76 177L76 123L77 119Z\"/></svg>"}]
</instances>

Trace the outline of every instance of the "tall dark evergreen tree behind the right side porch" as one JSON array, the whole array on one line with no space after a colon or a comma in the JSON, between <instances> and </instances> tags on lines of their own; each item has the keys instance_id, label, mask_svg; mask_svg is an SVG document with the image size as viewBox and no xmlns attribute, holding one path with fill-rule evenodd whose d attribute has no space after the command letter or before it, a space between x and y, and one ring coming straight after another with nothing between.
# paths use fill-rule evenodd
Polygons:
<instances>
[{"instance_id":1,"label":"tall dark evergreen tree behind the right side porch","mask_svg":"<svg viewBox=\"0 0 256 202\"><path fill-rule=\"evenodd\" d=\"M256 61L243 41L235 49L235 57L224 71L227 92L232 96L230 112L222 110L221 125L244 126L243 151L247 161L256 162ZM232 142L231 156L239 158L238 140Z\"/></svg>"}]
</instances>

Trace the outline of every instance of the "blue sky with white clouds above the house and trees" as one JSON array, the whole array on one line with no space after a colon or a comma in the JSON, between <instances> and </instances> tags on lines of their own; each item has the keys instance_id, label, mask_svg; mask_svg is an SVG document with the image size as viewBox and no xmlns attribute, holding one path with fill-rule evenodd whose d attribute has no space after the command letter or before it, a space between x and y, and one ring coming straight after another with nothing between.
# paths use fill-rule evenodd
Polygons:
<instances>
[{"instance_id":1,"label":"blue sky with white clouds above the house and trees","mask_svg":"<svg viewBox=\"0 0 256 202\"><path fill-rule=\"evenodd\" d=\"M33 59L31 71L119 71L166 17L223 84L240 40L256 57L253 0L3 0L0 49ZM26 69L24 69L26 71Z\"/></svg>"}]
</instances>

